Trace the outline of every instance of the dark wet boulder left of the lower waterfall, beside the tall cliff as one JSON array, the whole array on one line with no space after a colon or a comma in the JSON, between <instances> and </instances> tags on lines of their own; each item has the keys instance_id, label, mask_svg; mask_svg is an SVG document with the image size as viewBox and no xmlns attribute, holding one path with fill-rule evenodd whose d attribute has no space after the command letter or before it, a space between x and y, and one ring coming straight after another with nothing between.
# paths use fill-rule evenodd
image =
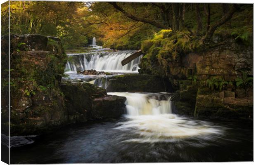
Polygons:
<instances>
[{"instance_id":1,"label":"dark wet boulder left of the lower waterfall, beside the tall cliff","mask_svg":"<svg viewBox=\"0 0 256 165\"><path fill-rule=\"evenodd\" d=\"M119 118L124 114L126 98L107 95L101 87L87 82L65 82L61 88L70 123Z\"/></svg>"}]
</instances>

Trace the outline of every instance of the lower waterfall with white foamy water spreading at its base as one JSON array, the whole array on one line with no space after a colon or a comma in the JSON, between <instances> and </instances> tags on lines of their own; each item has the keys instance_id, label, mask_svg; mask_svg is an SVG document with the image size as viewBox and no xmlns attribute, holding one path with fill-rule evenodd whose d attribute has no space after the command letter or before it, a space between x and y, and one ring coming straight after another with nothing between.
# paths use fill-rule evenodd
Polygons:
<instances>
[{"instance_id":1,"label":"lower waterfall with white foamy water spreading at its base","mask_svg":"<svg viewBox=\"0 0 256 165\"><path fill-rule=\"evenodd\" d=\"M123 142L175 142L181 139L214 139L223 135L223 128L220 129L210 122L172 114L171 101L165 94L108 94L126 97L126 118L129 120L118 123L119 126L115 129L128 130L137 136Z\"/></svg>"}]
</instances>

